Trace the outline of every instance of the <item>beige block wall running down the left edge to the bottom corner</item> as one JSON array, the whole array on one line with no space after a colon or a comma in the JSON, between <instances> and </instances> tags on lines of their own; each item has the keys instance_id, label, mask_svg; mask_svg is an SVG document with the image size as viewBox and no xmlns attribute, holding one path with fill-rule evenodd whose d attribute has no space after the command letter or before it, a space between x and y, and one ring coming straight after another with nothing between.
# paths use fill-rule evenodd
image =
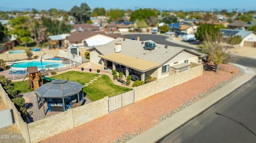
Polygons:
<instances>
[{"instance_id":1,"label":"beige block wall running down the left edge to the bottom corner","mask_svg":"<svg viewBox=\"0 0 256 143\"><path fill-rule=\"evenodd\" d=\"M24 136L26 142L30 142L27 123L23 121L22 117L20 116L20 112L18 112L17 108L14 106L13 102L8 97L8 95L6 94L6 92L4 91L1 85L0 85L0 96L3 102L12 110L14 122L17 125L20 133Z\"/></svg>"}]
</instances>

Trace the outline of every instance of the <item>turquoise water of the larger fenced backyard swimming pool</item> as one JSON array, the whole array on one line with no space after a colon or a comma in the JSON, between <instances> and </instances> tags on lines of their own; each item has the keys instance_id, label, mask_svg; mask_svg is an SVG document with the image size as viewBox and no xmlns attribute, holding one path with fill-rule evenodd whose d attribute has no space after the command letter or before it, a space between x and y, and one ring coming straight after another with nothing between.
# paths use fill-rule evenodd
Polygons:
<instances>
[{"instance_id":1,"label":"turquoise water of the larger fenced backyard swimming pool","mask_svg":"<svg viewBox=\"0 0 256 143\"><path fill-rule=\"evenodd\" d=\"M42 62L43 69L44 68L58 68L59 65L63 66L64 64L59 62ZM13 68L27 68L28 66L38 66L41 69L41 62L40 61L29 61L29 62L19 62L14 63L11 65Z\"/></svg>"}]
</instances>

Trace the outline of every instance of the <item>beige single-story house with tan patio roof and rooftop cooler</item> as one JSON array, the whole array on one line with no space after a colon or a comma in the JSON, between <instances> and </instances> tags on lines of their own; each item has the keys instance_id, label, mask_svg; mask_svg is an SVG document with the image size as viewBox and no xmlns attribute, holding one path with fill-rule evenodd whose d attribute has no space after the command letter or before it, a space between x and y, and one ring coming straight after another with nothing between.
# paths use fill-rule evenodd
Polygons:
<instances>
[{"instance_id":1,"label":"beige single-story house with tan patio roof and rooftop cooler","mask_svg":"<svg viewBox=\"0 0 256 143\"><path fill-rule=\"evenodd\" d=\"M88 51L91 62L123 72L126 77L137 75L142 81L149 76L162 79L185 71L189 69L190 62L201 64L203 57L203 54L186 48L125 38L117 38Z\"/></svg>"}]
</instances>

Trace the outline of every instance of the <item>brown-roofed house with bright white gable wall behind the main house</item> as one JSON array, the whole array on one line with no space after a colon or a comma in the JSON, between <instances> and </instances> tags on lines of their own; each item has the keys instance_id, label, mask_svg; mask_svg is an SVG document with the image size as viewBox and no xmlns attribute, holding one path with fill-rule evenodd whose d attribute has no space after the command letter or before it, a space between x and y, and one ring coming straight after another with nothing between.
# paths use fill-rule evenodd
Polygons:
<instances>
[{"instance_id":1,"label":"brown-roofed house with bright white gable wall behind the main house","mask_svg":"<svg viewBox=\"0 0 256 143\"><path fill-rule=\"evenodd\" d=\"M70 33L67 39L69 44L89 47L107 44L118 37L123 38L124 36L120 33L107 34L103 31L82 31Z\"/></svg>"}]
</instances>

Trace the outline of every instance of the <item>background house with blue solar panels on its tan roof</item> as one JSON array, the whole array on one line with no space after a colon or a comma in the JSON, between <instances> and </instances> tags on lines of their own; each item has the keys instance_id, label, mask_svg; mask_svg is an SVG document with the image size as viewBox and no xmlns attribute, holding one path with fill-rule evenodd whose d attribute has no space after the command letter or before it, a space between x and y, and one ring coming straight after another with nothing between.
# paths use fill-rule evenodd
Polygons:
<instances>
[{"instance_id":1,"label":"background house with blue solar panels on its tan roof","mask_svg":"<svg viewBox=\"0 0 256 143\"><path fill-rule=\"evenodd\" d=\"M197 31L197 26L194 26L193 24L172 23L168 26L171 31L177 33L194 34Z\"/></svg>"}]
</instances>

